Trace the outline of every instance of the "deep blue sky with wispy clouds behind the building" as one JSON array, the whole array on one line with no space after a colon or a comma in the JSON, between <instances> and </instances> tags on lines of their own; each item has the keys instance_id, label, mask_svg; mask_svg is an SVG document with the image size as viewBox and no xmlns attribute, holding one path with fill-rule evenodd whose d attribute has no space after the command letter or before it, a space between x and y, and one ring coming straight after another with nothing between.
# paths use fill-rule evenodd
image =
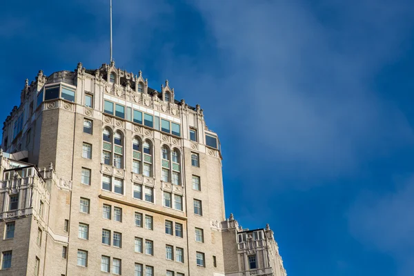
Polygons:
<instances>
[{"instance_id":1,"label":"deep blue sky with wispy clouds behind the building","mask_svg":"<svg viewBox=\"0 0 414 276\"><path fill-rule=\"evenodd\" d=\"M288 275L414 275L411 1L113 1L116 65L204 108L227 215ZM108 2L1 4L0 117L40 69L108 63Z\"/></svg>"}]
</instances>

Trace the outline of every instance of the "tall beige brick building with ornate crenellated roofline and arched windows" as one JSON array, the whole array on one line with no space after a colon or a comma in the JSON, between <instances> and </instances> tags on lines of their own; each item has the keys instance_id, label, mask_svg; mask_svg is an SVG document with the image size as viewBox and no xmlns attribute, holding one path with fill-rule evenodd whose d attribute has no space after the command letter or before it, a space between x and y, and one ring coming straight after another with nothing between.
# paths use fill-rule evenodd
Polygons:
<instances>
[{"instance_id":1,"label":"tall beige brick building with ornate crenellated roofline and arched windows","mask_svg":"<svg viewBox=\"0 0 414 276\"><path fill-rule=\"evenodd\" d=\"M268 226L226 219L217 134L168 81L39 71L1 148L0 275L286 275Z\"/></svg>"}]
</instances>

